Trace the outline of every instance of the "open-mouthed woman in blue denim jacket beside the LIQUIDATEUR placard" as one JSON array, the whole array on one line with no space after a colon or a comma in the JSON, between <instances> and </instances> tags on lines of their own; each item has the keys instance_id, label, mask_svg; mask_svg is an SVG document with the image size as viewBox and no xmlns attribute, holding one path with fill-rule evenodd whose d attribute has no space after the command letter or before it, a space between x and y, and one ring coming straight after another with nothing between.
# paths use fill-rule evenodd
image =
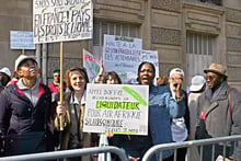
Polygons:
<instances>
[{"instance_id":1,"label":"open-mouthed woman in blue denim jacket beside the LIQUIDATEUR placard","mask_svg":"<svg viewBox=\"0 0 241 161\"><path fill-rule=\"evenodd\" d=\"M145 152L154 145L172 142L171 118L183 116L185 102L181 92L182 82L177 81L176 95L173 99L163 87L153 85L154 66L144 61L138 67L139 84L149 85L149 123L148 136L128 136L122 140L122 148L129 159L142 160ZM157 152L151 161L157 161ZM173 150L162 152L163 161L173 161Z\"/></svg>"}]
</instances>

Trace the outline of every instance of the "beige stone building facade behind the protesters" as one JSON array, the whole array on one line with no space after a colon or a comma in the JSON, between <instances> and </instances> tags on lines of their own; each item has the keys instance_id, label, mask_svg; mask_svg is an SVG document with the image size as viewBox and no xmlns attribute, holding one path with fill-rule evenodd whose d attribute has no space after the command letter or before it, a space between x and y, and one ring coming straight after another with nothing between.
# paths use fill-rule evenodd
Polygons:
<instances>
[{"instance_id":1,"label":"beige stone building facade behind the protesters","mask_svg":"<svg viewBox=\"0 0 241 161\"><path fill-rule=\"evenodd\" d=\"M10 31L32 31L33 1L3 1L0 67L13 70L23 51L10 49ZM160 74L181 67L188 85L210 62L220 62L228 67L229 83L241 89L240 0L93 0L93 39L64 43L64 69L82 66L83 48L100 58L103 35L115 34L142 38L144 49L158 50ZM43 77L50 81L53 69L59 68L59 43L37 45L36 50L41 66L46 66Z\"/></svg>"}]
</instances>

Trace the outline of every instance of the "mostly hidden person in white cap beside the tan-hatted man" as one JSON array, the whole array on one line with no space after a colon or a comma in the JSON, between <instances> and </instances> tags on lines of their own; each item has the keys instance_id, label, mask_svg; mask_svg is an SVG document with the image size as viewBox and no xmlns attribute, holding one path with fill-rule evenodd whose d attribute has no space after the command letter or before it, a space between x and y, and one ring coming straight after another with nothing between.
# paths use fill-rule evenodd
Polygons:
<instances>
[{"instance_id":1,"label":"mostly hidden person in white cap beside the tan-hatted man","mask_svg":"<svg viewBox=\"0 0 241 161\"><path fill-rule=\"evenodd\" d=\"M188 110L190 110L190 140L195 140L195 129L196 129L196 111L197 111L197 100L206 89L206 80L203 76L194 76L190 85L188 93ZM190 152L190 160L199 160L199 154L197 147L192 147Z\"/></svg>"}]
</instances>

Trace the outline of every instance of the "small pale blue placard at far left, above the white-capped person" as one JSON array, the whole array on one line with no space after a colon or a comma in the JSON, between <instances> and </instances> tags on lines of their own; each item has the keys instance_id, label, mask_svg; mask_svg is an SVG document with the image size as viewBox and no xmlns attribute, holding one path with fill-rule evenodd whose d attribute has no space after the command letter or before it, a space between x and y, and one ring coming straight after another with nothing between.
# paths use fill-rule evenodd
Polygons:
<instances>
[{"instance_id":1,"label":"small pale blue placard at far left, above the white-capped person","mask_svg":"<svg viewBox=\"0 0 241 161\"><path fill-rule=\"evenodd\" d=\"M33 32L11 31L10 32L11 49L35 49Z\"/></svg>"}]
</instances>

